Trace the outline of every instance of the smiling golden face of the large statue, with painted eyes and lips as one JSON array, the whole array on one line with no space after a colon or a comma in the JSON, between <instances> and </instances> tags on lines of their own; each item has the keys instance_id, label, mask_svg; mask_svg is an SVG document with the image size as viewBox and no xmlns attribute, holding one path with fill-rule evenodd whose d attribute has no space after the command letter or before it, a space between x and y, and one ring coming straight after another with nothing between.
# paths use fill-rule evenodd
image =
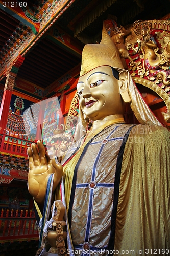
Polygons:
<instances>
[{"instance_id":1,"label":"smiling golden face of the large statue, with painted eyes and lips","mask_svg":"<svg viewBox=\"0 0 170 256\"><path fill-rule=\"evenodd\" d=\"M118 80L110 66L95 68L79 78L79 104L83 113L95 121L106 116L123 114Z\"/></svg>"}]
</instances>

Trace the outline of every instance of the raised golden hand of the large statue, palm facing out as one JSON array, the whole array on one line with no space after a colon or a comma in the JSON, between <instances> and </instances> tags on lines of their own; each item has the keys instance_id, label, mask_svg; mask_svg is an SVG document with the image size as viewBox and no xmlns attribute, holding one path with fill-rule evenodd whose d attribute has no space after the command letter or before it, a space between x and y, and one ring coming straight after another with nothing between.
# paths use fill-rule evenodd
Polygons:
<instances>
[{"instance_id":1,"label":"raised golden hand of the large statue, palm facing out","mask_svg":"<svg viewBox=\"0 0 170 256\"><path fill-rule=\"evenodd\" d=\"M36 202L42 204L45 199L48 177L54 173L54 191L62 178L63 167L61 164L56 163L55 158L50 159L48 153L45 153L45 148L41 141L37 141L37 147L35 143L32 143L27 151L30 169L28 190Z\"/></svg>"}]
</instances>

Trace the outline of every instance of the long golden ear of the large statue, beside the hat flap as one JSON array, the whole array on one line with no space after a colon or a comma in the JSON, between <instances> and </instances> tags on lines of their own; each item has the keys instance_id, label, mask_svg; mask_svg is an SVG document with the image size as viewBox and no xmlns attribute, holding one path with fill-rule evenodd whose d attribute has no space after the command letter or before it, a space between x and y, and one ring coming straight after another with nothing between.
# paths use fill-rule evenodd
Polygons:
<instances>
[{"instance_id":1,"label":"long golden ear of the large statue, beside the hat flap","mask_svg":"<svg viewBox=\"0 0 170 256\"><path fill-rule=\"evenodd\" d=\"M127 71L121 71L119 73L119 94L122 96L122 99L125 103L130 103L131 98L128 92L128 72Z\"/></svg>"}]
</instances>

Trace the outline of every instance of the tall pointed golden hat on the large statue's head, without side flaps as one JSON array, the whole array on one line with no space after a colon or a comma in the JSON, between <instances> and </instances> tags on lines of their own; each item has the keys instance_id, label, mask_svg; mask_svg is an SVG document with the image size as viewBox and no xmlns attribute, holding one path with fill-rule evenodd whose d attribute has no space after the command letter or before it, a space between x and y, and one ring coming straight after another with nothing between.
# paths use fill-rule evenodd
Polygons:
<instances>
[{"instance_id":1,"label":"tall pointed golden hat on the large statue's head, without side flaps","mask_svg":"<svg viewBox=\"0 0 170 256\"><path fill-rule=\"evenodd\" d=\"M124 68L104 23L100 44L88 44L83 49L80 76L99 66Z\"/></svg>"}]
</instances>

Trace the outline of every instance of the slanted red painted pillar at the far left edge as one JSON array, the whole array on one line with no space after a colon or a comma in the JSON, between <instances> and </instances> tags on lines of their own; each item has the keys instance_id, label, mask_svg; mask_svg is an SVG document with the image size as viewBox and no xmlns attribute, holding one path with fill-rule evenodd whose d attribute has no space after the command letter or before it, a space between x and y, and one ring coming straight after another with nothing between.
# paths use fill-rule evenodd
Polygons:
<instances>
[{"instance_id":1,"label":"slanted red painted pillar at the far left edge","mask_svg":"<svg viewBox=\"0 0 170 256\"><path fill-rule=\"evenodd\" d=\"M2 99L1 108L0 108L0 133L1 134L3 134L4 129L6 128L6 125L7 125L7 119L8 119L9 107L11 103L12 91L14 88L15 77L16 77L15 73L9 72L9 74L7 75L6 83L5 83L4 94L3 94L3 99Z\"/></svg>"}]
</instances>

